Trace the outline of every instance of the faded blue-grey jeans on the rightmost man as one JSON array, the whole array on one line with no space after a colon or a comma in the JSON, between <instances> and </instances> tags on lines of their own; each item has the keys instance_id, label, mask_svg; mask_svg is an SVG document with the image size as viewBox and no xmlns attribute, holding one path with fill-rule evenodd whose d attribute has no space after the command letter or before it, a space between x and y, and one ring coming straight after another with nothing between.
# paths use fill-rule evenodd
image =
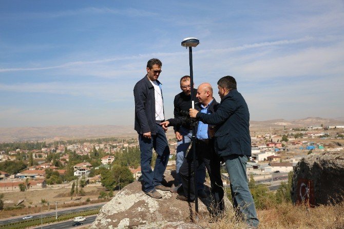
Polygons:
<instances>
[{"instance_id":1,"label":"faded blue-grey jeans on the rightmost man","mask_svg":"<svg viewBox=\"0 0 344 229\"><path fill-rule=\"evenodd\" d=\"M247 183L245 155L229 155L223 157L231 182L231 194L234 209L243 217L247 224L258 226L256 207Z\"/></svg>"}]
</instances>

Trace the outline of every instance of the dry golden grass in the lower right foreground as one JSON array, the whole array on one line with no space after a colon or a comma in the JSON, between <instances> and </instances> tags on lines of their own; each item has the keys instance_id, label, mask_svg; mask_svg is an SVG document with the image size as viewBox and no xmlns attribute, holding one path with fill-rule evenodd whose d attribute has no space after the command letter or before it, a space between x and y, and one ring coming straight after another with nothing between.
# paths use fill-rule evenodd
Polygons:
<instances>
[{"instance_id":1,"label":"dry golden grass in the lower right foreground","mask_svg":"<svg viewBox=\"0 0 344 229\"><path fill-rule=\"evenodd\" d=\"M342 229L344 228L344 203L335 206L318 206L308 208L304 205L295 206L291 203L281 203L266 210L260 210L259 229ZM242 229L246 228L244 222L228 211L224 218L215 222L199 222L204 228L211 229Z\"/></svg>"}]
</instances>

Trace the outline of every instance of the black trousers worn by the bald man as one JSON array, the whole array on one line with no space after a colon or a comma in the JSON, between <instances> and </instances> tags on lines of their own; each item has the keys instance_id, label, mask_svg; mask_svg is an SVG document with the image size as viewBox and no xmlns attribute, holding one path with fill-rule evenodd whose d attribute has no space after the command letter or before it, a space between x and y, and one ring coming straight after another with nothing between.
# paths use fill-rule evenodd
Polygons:
<instances>
[{"instance_id":1,"label":"black trousers worn by the bald man","mask_svg":"<svg viewBox=\"0 0 344 229\"><path fill-rule=\"evenodd\" d=\"M193 147L194 146L192 145L186 159L183 161L183 164L179 169L184 189L184 196L190 201L195 199ZM224 192L220 173L220 158L214 151L214 144L212 141L209 141L208 143L201 142L199 140L196 141L196 168L198 168L203 162L208 170L215 202L218 205L218 208L222 210Z\"/></svg>"}]
</instances>

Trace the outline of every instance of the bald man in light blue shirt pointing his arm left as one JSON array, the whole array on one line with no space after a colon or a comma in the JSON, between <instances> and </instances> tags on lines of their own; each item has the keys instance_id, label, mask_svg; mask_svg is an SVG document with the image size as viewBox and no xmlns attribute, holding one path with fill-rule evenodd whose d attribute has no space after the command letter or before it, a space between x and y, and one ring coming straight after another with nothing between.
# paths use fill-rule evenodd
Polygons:
<instances>
[{"instance_id":1,"label":"bald man in light blue shirt pointing his arm left","mask_svg":"<svg viewBox=\"0 0 344 229\"><path fill-rule=\"evenodd\" d=\"M196 104L196 108L200 112L206 114L213 113L218 103L213 98L213 88L208 83L201 84L197 89L197 99L199 103ZM190 123L189 118L180 117L176 119L169 119L160 125L164 128L167 126L176 126L184 123ZM205 167L208 170L209 178L211 179L212 193L216 201L216 210L221 212L223 209L223 183L220 174L220 160L215 154L213 145L213 128L212 125L204 124L203 122L197 122L196 132L196 169L204 162ZM192 202L195 200L195 178L194 178L194 162L193 162L193 147L191 146L186 159L183 161L180 167L179 173L182 179L182 187L184 195L178 195L177 199L183 201Z\"/></svg>"}]
</instances>

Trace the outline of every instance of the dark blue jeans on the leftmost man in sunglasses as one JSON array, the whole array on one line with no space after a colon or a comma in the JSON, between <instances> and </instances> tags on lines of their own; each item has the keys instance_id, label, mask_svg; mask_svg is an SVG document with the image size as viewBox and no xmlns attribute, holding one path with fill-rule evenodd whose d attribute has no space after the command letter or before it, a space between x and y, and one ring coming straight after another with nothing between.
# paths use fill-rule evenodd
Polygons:
<instances>
[{"instance_id":1,"label":"dark blue jeans on the leftmost man in sunglasses","mask_svg":"<svg viewBox=\"0 0 344 229\"><path fill-rule=\"evenodd\" d=\"M139 135L139 145L141 151L141 173L143 178L143 191L145 193L160 185L167 166L169 147L165 131L159 124L156 124L157 133L151 139ZM152 159L153 148L157 152L154 171L151 170L150 162Z\"/></svg>"}]
</instances>

